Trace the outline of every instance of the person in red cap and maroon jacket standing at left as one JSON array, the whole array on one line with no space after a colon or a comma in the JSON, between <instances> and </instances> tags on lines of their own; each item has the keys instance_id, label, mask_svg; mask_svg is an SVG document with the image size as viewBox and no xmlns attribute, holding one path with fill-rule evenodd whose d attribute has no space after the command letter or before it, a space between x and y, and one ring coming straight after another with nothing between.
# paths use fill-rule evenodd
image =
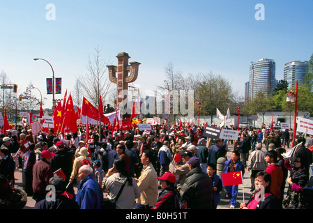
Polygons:
<instances>
[{"instance_id":1,"label":"person in red cap and maroon jacket standing at left","mask_svg":"<svg viewBox=\"0 0 313 223\"><path fill-rule=\"evenodd\" d=\"M49 185L49 178L54 176L50 164L53 156L54 153L43 151L41 159L33 165L33 199L36 202L45 199L45 188Z\"/></svg>"}]
</instances>

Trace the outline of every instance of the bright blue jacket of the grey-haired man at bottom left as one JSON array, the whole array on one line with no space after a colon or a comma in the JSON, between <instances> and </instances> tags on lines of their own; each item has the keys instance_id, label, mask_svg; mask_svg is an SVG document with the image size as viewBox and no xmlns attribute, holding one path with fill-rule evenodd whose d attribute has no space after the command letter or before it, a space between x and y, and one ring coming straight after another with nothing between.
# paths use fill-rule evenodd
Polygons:
<instances>
[{"instance_id":1,"label":"bright blue jacket of the grey-haired man at bottom left","mask_svg":"<svg viewBox=\"0 0 313 223\"><path fill-rule=\"evenodd\" d=\"M93 174L82 180L77 191L76 202L80 209L100 209L103 192Z\"/></svg>"}]
</instances>

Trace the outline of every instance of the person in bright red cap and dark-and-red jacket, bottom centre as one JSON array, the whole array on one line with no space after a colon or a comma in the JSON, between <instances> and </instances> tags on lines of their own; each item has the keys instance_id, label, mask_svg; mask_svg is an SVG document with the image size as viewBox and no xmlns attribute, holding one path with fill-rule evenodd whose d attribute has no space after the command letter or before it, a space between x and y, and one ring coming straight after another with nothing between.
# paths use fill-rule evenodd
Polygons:
<instances>
[{"instance_id":1,"label":"person in bright red cap and dark-and-red jacket, bottom centre","mask_svg":"<svg viewBox=\"0 0 313 223\"><path fill-rule=\"evenodd\" d=\"M160 177L157 177L161 181L161 189L157 202L152 209L178 209L178 200L175 199L178 196L178 192L175 188L176 177L174 174L166 172Z\"/></svg>"}]
</instances>

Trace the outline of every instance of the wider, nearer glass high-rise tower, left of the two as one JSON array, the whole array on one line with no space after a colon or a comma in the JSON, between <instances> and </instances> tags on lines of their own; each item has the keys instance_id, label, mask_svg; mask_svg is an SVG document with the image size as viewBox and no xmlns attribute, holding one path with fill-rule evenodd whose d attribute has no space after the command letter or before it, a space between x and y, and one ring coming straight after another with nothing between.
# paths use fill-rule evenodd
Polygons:
<instances>
[{"instance_id":1,"label":"wider, nearer glass high-rise tower, left of the two","mask_svg":"<svg viewBox=\"0 0 313 223\"><path fill-rule=\"evenodd\" d=\"M260 59L250 64L249 100L261 91L269 96L277 84L275 79L276 63L272 59Z\"/></svg>"}]
</instances>

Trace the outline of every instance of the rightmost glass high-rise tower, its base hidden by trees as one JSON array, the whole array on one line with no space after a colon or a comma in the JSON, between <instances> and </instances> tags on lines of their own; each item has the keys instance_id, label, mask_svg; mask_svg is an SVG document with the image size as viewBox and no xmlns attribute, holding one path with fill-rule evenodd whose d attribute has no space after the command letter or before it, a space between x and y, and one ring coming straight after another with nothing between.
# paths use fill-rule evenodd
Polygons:
<instances>
[{"instance_id":1,"label":"rightmost glass high-rise tower, its base hidden by trees","mask_svg":"<svg viewBox=\"0 0 313 223\"><path fill-rule=\"evenodd\" d=\"M288 88L303 84L303 77L307 69L307 61L291 61L284 65L284 80L288 82Z\"/></svg>"}]
</instances>

